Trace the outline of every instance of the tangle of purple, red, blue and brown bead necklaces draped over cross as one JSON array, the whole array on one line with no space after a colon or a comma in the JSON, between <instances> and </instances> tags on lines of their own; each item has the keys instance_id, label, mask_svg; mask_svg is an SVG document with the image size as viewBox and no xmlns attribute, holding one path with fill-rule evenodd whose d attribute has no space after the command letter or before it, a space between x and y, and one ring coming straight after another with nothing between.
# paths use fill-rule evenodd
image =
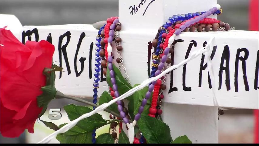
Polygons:
<instances>
[{"instance_id":1,"label":"tangle of purple, red, blue and brown bead necklaces draped over cross","mask_svg":"<svg viewBox=\"0 0 259 146\"><path fill-rule=\"evenodd\" d=\"M218 30L230 30L230 26L227 23L220 22L217 19L211 19L207 18L207 16L210 16L212 14L221 14L222 10L220 9L220 5L217 5L217 7L213 7L212 9L206 11L206 12L197 12L197 13L188 13L185 15L174 15L173 17L169 18L169 21L164 24L161 28L159 28L158 33L155 37L155 39L152 41L152 45L154 47L154 54L153 54L153 64L152 71L151 71L151 77L155 77L157 75L160 75L161 72L165 68L165 63L167 63L167 68L169 67L169 64L171 64L172 60L170 59L172 53L174 52L172 48L172 44L174 41L175 36L179 35L182 31L218 31ZM118 98L119 92L118 92L118 86L116 84L116 74L113 70L113 55L112 55L112 46L111 43L113 42L113 38L116 42L116 50L118 52L119 58L116 59L116 62L120 64L123 64L123 60L121 57L121 54L119 51L122 50L122 47L119 46L119 43L122 41L121 38L118 37L118 33L121 30L121 23L119 23L118 17L111 17L107 19L107 24L99 30L98 33L101 34L101 37L104 38L96 38L97 40L97 47L99 50L99 56L102 57L101 65L103 67L103 74L106 75L107 67L109 69L109 75L111 77L111 83L112 87L109 88L110 94L113 98ZM101 47L101 49L100 49ZM97 54L97 52L96 52ZM96 76L98 75L100 69L100 60L101 58L96 55ZM99 58L98 58L99 57ZM106 59L105 59L106 58ZM125 71L125 74L127 76L127 81L129 82L129 78L126 72L126 69L124 67L124 64L122 65L123 69ZM98 76L99 77L99 76ZM134 127L136 125L136 122L140 119L141 113L144 110L144 106L147 103L147 100L150 99L151 92L153 92L153 100L150 107L150 113L149 116L156 117L157 115L162 114L162 110L159 109L161 106L161 101L158 101L163 99L164 96L162 94L161 90L165 90L166 86L164 85L166 76L162 77L161 79L152 82L149 85L148 91L146 92L145 98L141 102L141 106L139 107L138 113L135 115L134 121L132 125L129 123L130 116L127 115L128 112L124 110L124 103L123 101L119 100L117 101L118 105L118 111L120 113L120 116L122 117L123 122L130 128ZM163 81L162 81L163 80ZM99 79L96 78L94 83L94 99L97 96L97 88L99 86ZM96 89L96 90L95 90ZM94 101L96 102L97 99ZM158 108L158 109L156 109ZM117 135L116 135L117 136ZM115 138L115 137L114 137ZM135 139L136 140L136 139ZM131 141L131 140L130 140Z\"/></svg>"}]
</instances>

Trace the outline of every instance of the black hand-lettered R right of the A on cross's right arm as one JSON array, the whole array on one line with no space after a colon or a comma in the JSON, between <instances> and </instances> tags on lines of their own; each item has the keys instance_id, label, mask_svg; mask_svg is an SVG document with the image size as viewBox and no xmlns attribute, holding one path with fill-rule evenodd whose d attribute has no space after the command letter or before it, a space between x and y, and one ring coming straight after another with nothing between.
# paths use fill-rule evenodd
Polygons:
<instances>
[{"instance_id":1,"label":"black hand-lettered R right of the A on cross's right arm","mask_svg":"<svg viewBox=\"0 0 259 146\"><path fill-rule=\"evenodd\" d=\"M244 57L240 57L240 53L242 51L244 52ZM245 90L249 91L249 85L248 85L247 76L246 76L246 60L247 60L248 56L249 56L249 51L246 48L237 49L236 65L235 65L235 92L238 92L238 65L239 65L239 60L242 61L242 70L243 70Z\"/></svg>"}]
</instances>

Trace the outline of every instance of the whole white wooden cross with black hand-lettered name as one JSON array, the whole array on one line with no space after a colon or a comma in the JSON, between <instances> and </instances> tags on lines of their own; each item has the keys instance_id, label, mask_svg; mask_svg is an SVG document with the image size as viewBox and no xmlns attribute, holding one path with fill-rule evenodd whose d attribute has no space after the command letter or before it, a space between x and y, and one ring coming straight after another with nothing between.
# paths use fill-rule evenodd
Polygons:
<instances>
[{"instance_id":1,"label":"whole white wooden cross with black hand-lettered name","mask_svg":"<svg viewBox=\"0 0 259 146\"><path fill-rule=\"evenodd\" d=\"M206 11L215 6L217 0L188 0L188 3L170 0L119 0L119 20L123 28L120 33L123 40L122 57L132 84L141 83L148 78L149 42L169 17ZM12 22L12 19L9 20ZM2 25L4 24L0 26ZM234 24L230 24L232 25ZM62 65L65 71L56 75L56 88L59 91L68 95L93 96L94 43L98 30L87 24L23 26L20 31L17 30L18 26L10 29L23 42L28 38L52 40L55 46L53 61ZM80 37L83 37L82 43L77 47ZM230 30L181 33L176 37L183 42L175 45L174 64L188 58L188 53L202 48L204 42L211 37L215 37L213 46L216 46L212 59L215 80L211 82L211 86L215 87L215 98L213 89L209 87L208 68L204 68L207 59L203 61L202 55L171 72L171 78L170 75L167 77L162 117L169 125L173 139L187 135L193 143L217 143L218 107L258 109L258 32ZM114 54L116 58L116 52ZM248 58L241 61L244 55L248 55ZM85 61L80 61L80 58ZM226 64L228 61L229 65ZM222 76L220 68L223 69ZM247 80L247 84L244 80ZM99 93L107 89L107 83L101 82Z\"/></svg>"}]
</instances>

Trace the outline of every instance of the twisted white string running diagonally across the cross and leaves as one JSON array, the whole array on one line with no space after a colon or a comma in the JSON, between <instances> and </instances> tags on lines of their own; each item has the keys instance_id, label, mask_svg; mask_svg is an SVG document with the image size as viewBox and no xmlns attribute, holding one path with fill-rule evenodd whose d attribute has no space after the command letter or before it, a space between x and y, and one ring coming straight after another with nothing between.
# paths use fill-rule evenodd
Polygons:
<instances>
[{"instance_id":1,"label":"twisted white string running diagonally across the cross and leaves","mask_svg":"<svg viewBox=\"0 0 259 146\"><path fill-rule=\"evenodd\" d=\"M119 96L116 99L113 99L111 101L109 101L108 103L104 103L100 106L98 106L95 110L91 111L90 113L85 113L82 116L80 116L79 118L71 121L70 123L66 124L65 126L61 127L59 130L53 132L52 134L50 134L49 136L45 137L42 141L38 142L38 143L48 143L52 138L55 138L58 134L61 133L65 133L67 132L69 129L71 129L72 127L74 127L80 120L87 118L89 116L92 116L94 114L96 114L97 112L102 111L103 109L106 109L108 106L112 105L113 103L116 103L118 100L122 100L125 99L126 97L131 96L134 92L139 91L141 89L143 89L144 87L148 86L151 82L158 80L159 78L161 78L162 76L166 75L168 72L179 68L181 66L183 66L184 64L186 64L187 62L193 60L194 58L200 56L201 54L207 52L207 48L210 47L210 43L212 42L212 40L214 40L215 37L211 38L209 43L207 44L206 47L203 47L197 51L194 51L189 58L181 61L179 64L177 65L173 65L169 68L167 68L165 71L163 71L160 75L157 75L156 77L153 78L149 78L145 81L143 81L140 85L134 87L133 89L129 90L128 92L124 93L123 95ZM211 64L210 64L211 65ZM211 68L210 68L211 69ZM213 75L211 73L211 75ZM215 97L216 98L216 97ZM217 101L217 100L215 100Z\"/></svg>"}]
</instances>

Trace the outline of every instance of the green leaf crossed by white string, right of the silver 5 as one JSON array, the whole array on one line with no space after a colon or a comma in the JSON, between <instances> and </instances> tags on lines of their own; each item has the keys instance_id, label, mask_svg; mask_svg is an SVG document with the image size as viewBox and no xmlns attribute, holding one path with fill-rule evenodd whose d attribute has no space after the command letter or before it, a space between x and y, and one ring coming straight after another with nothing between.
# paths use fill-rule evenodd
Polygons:
<instances>
[{"instance_id":1,"label":"green leaf crossed by white string, right of the silver 5","mask_svg":"<svg viewBox=\"0 0 259 146\"><path fill-rule=\"evenodd\" d=\"M92 109L86 106L76 106L74 104L66 105L64 106L64 109L66 110L70 121L75 120L79 116L82 116L83 114L92 111ZM102 116L96 113L92 116L89 116L88 118L79 121L76 126L81 128L82 130L85 130L86 132L92 132L93 130L104 126L106 123L107 122L103 120Z\"/></svg>"}]
</instances>

